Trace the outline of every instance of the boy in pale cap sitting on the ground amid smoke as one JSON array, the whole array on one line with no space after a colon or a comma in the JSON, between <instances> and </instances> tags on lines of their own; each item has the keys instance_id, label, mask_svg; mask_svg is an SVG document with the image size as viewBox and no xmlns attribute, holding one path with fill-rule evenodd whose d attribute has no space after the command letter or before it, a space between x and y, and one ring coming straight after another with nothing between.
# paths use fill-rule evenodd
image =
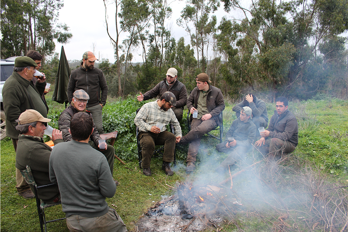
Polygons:
<instances>
[{"instance_id":1,"label":"boy in pale cap sitting on the ground amid smoke","mask_svg":"<svg viewBox=\"0 0 348 232\"><path fill-rule=\"evenodd\" d=\"M217 151L229 153L228 157L216 168L216 172L222 173L228 169L228 166L243 159L245 154L252 150L255 136L256 126L252 122L252 110L250 107L244 106L240 110L239 118L232 122L225 142L216 145Z\"/></svg>"}]
</instances>

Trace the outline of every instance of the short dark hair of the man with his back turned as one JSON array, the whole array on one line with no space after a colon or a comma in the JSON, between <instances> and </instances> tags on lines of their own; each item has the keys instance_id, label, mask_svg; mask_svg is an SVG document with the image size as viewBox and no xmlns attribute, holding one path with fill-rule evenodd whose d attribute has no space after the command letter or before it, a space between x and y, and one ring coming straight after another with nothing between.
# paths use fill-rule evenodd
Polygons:
<instances>
[{"instance_id":1,"label":"short dark hair of the man with his back turned","mask_svg":"<svg viewBox=\"0 0 348 232\"><path fill-rule=\"evenodd\" d=\"M74 114L70 121L71 137L75 141L86 140L93 130L93 119L85 112Z\"/></svg>"}]
</instances>

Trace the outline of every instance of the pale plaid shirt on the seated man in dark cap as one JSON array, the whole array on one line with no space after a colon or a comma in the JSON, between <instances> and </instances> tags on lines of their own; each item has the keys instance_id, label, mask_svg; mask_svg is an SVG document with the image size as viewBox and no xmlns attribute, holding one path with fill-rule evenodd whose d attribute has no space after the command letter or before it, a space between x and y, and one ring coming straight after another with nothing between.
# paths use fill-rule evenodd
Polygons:
<instances>
[{"instance_id":1,"label":"pale plaid shirt on the seated man in dark cap","mask_svg":"<svg viewBox=\"0 0 348 232\"><path fill-rule=\"evenodd\" d=\"M159 100L157 100L159 101ZM167 129L167 125L172 123L174 126L175 137L182 137L181 127L179 121L177 121L172 109L167 111L161 110L157 101L146 103L141 107L139 112L134 118L134 123L143 132L151 131L152 126L156 126L158 122L164 126L161 128L161 132Z\"/></svg>"}]
</instances>

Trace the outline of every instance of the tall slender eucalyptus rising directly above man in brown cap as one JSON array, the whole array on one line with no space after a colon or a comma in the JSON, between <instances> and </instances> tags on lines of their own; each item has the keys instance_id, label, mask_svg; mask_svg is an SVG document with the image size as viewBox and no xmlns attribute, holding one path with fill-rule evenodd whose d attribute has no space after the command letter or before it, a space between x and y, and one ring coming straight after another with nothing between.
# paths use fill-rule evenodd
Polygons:
<instances>
[{"instance_id":1,"label":"tall slender eucalyptus rising directly above man in brown cap","mask_svg":"<svg viewBox=\"0 0 348 232\"><path fill-rule=\"evenodd\" d=\"M217 0L190 0L181 11L181 18L177 19L177 24L184 27L190 35L190 42L197 51L197 60L201 61L200 66L198 63L198 68L200 67L202 72L206 69L204 53L208 50L209 35L215 32L216 25L216 16L210 18L210 14L213 14L219 6L220 2Z\"/></svg>"}]
</instances>

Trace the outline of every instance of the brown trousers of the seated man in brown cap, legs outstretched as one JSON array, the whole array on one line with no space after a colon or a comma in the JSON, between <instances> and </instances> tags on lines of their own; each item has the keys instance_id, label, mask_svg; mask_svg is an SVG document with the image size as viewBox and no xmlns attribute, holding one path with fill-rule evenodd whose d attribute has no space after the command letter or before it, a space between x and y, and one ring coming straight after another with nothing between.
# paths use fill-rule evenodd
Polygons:
<instances>
[{"instance_id":1,"label":"brown trousers of the seated man in brown cap, legs outstretched","mask_svg":"<svg viewBox=\"0 0 348 232\"><path fill-rule=\"evenodd\" d=\"M180 140L180 144L189 144L189 151L187 152L186 162L196 162L196 157L200 145L200 140L203 135L213 130L216 126L214 119L208 119L202 121L201 119L192 119L191 130L187 135L183 136Z\"/></svg>"}]
</instances>

